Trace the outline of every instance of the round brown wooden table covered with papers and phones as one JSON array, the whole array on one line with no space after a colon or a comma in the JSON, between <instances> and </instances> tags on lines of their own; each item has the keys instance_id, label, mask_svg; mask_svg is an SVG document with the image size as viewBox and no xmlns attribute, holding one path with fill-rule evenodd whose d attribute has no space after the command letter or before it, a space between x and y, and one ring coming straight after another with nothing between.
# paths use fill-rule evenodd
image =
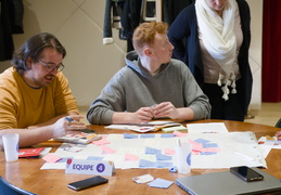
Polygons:
<instances>
[{"instance_id":1,"label":"round brown wooden table covered with papers and phones","mask_svg":"<svg viewBox=\"0 0 281 195\"><path fill-rule=\"evenodd\" d=\"M273 135L279 128L240 122L228 120L199 120L189 123L197 122L225 122L229 131L253 131L256 133L257 139L264 135ZM135 133L132 131L123 130L105 130L103 126L89 126L88 128L98 131L99 134L107 133ZM52 147L54 152L61 143L54 141L43 142L35 147ZM268 169L264 171L281 179L281 151L271 150L266 158ZM154 178L162 178L175 181L177 178L189 177L195 174L203 174L209 172L221 171L226 169L192 169L189 174L171 173L167 169L117 169L113 177L105 177L108 179L107 184L99 185L80 192L73 191L67 187L67 184L74 181L90 178L87 174L65 174L65 170L40 170L44 164L43 159L18 159L15 162L5 162L4 153L0 152L0 176L12 184L33 192L35 194L133 194L133 195L157 195L157 194L187 194L177 184L173 184L169 188L154 188L144 184L137 184L132 181L133 177L142 174L151 174Z\"/></svg>"}]
</instances>

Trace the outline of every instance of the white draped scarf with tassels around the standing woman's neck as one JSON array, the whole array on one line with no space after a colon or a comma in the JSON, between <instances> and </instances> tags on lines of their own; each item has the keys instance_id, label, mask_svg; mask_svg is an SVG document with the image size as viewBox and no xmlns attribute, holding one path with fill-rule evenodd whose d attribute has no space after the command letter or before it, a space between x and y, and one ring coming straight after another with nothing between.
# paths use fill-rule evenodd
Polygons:
<instances>
[{"instance_id":1,"label":"white draped scarf with tassels around the standing woman's neck","mask_svg":"<svg viewBox=\"0 0 281 195\"><path fill-rule=\"evenodd\" d=\"M223 8L221 18L217 12L206 3L206 0L196 0L195 3L202 41L210 56L215 58L221 69L218 86L221 86L221 81L225 83L221 89L223 91L222 99L226 101L229 99L228 86L232 87L231 93L237 93L233 69L237 57L237 38L233 31L235 9L234 0L228 0L228 3Z\"/></svg>"}]
</instances>

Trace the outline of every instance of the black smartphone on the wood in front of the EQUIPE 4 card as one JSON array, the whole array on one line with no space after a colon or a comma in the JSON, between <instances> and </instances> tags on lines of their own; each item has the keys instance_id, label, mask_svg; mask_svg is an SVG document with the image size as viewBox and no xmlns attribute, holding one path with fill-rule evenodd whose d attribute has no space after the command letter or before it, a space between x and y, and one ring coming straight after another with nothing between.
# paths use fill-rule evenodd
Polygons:
<instances>
[{"instance_id":1,"label":"black smartphone on the wood in front of the EQUIPE 4 card","mask_svg":"<svg viewBox=\"0 0 281 195\"><path fill-rule=\"evenodd\" d=\"M67 186L75 191L80 191L84 188L92 187L92 186L100 185L100 184L107 183L107 182L108 182L108 180L106 178L97 176L97 177L92 177L92 178L89 178L86 180L80 180L77 182L68 183Z\"/></svg>"}]
</instances>

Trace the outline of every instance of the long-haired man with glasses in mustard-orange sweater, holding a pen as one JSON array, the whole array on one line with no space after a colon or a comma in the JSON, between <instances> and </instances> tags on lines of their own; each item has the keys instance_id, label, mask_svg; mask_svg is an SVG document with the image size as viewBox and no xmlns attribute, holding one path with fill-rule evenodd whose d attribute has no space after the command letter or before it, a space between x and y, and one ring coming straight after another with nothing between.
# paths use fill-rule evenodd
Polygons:
<instances>
[{"instance_id":1,"label":"long-haired man with glasses in mustard-orange sweater, holding a pen","mask_svg":"<svg viewBox=\"0 0 281 195\"><path fill-rule=\"evenodd\" d=\"M28 146L85 128L61 72L65 55L60 41L46 32L14 53L13 66L0 74L0 136L18 133L20 146Z\"/></svg>"}]
</instances>

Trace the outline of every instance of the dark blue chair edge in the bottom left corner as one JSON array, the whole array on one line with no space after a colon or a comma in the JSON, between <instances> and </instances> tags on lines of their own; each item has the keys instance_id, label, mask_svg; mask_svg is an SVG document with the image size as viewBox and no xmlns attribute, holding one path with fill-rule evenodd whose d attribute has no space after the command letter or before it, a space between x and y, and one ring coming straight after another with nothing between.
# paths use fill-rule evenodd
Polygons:
<instances>
[{"instance_id":1,"label":"dark blue chair edge in the bottom left corner","mask_svg":"<svg viewBox=\"0 0 281 195\"><path fill-rule=\"evenodd\" d=\"M0 176L0 195L36 195L9 183Z\"/></svg>"}]
</instances>

